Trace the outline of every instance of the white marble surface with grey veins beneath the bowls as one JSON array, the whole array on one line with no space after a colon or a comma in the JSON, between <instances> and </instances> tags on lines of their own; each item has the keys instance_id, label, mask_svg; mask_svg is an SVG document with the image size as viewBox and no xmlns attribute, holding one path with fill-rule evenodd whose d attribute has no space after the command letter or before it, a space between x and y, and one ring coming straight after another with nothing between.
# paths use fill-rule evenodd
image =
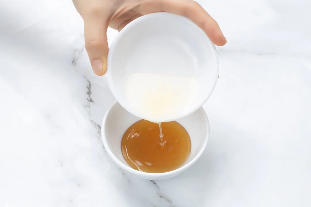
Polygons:
<instances>
[{"instance_id":1,"label":"white marble surface with grey veins beneath the bowls","mask_svg":"<svg viewBox=\"0 0 311 207\"><path fill-rule=\"evenodd\" d=\"M176 178L118 169L71 1L0 1L0 207L311 206L311 3L199 1L228 43L202 158ZM109 42L117 33L109 30Z\"/></svg>"}]
</instances>

